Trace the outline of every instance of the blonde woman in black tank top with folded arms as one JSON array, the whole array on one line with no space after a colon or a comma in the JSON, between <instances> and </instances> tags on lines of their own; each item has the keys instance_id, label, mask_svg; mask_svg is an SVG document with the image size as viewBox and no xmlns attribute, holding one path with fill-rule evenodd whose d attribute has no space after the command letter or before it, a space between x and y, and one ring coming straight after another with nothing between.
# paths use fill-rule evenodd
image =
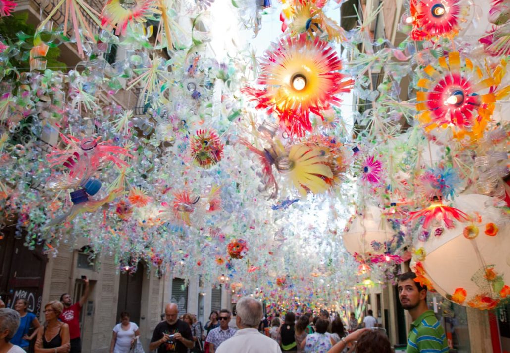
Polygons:
<instances>
[{"instance_id":1,"label":"blonde woman in black tank top with folded arms","mask_svg":"<svg viewBox=\"0 0 510 353\"><path fill-rule=\"evenodd\" d=\"M58 300L52 300L44 306L46 321L37 331L35 353L67 353L71 349L69 325L59 321L64 306Z\"/></svg>"}]
</instances>

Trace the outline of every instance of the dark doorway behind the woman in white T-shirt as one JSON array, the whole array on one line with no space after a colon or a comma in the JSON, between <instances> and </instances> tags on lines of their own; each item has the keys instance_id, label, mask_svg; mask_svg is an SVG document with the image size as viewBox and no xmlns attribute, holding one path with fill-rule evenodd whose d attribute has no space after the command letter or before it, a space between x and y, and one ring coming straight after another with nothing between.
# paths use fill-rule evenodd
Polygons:
<instances>
[{"instance_id":1,"label":"dark doorway behind the woman in white T-shirt","mask_svg":"<svg viewBox=\"0 0 510 353\"><path fill-rule=\"evenodd\" d=\"M120 322L120 313L127 311L130 314L130 321L140 325L140 303L142 301L144 273L145 266L140 262L135 273L120 274L116 322Z\"/></svg>"}]
</instances>

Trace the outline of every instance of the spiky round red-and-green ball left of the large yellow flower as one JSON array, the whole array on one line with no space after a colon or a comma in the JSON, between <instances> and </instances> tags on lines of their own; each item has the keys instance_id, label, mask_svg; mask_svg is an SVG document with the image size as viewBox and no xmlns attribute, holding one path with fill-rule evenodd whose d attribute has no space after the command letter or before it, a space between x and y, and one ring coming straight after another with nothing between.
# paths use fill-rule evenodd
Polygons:
<instances>
[{"instance_id":1,"label":"spiky round red-and-green ball left of the large yellow flower","mask_svg":"<svg viewBox=\"0 0 510 353\"><path fill-rule=\"evenodd\" d=\"M204 169L221 161L223 143L214 130L197 130L190 141L191 157Z\"/></svg>"}]
</instances>

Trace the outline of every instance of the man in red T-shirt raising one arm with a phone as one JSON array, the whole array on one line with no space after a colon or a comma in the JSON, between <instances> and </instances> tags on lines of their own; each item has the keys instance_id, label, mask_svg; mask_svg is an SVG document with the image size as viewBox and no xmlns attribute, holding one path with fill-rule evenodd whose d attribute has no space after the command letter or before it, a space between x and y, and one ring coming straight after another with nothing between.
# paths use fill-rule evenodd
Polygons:
<instances>
[{"instance_id":1,"label":"man in red T-shirt raising one arm with a phone","mask_svg":"<svg viewBox=\"0 0 510 353\"><path fill-rule=\"evenodd\" d=\"M64 293L60 296L60 301L64 305L64 311L60 314L59 319L69 325L69 338L71 339L71 350L69 353L81 353L82 341L80 339L80 311L89 296L89 280L87 276L82 276L85 282L85 290L80 301L72 304L71 295Z\"/></svg>"}]
</instances>

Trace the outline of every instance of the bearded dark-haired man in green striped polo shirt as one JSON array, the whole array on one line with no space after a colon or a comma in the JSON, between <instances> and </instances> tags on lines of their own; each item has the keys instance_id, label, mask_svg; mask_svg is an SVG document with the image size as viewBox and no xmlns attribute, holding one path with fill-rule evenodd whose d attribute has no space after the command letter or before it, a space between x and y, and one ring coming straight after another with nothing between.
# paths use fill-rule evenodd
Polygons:
<instances>
[{"instance_id":1,"label":"bearded dark-haired man in green striped polo shirt","mask_svg":"<svg viewBox=\"0 0 510 353\"><path fill-rule=\"evenodd\" d=\"M398 278L398 298L413 318L407 337L406 353L447 353L443 326L427 307L427 287L415 282L416 274L406 272Z\"/></svg>"}]
</instances>

